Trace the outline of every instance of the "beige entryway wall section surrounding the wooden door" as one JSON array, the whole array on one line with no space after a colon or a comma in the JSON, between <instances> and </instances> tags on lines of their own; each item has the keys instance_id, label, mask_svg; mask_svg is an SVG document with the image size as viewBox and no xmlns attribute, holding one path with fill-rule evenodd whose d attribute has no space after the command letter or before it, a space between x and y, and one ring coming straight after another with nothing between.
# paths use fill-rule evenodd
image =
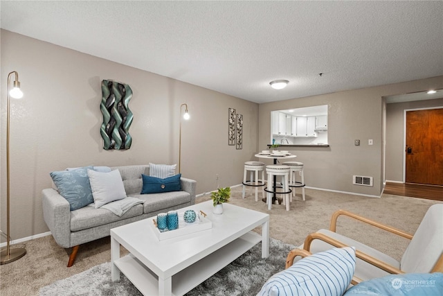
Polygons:
<instances>
[{"instance_id":1,"label":"beige entryway wall section surrounding the wooden door","mask_svg":"<svg viewBox=\"0 0 443 296\"><path fill-rule=\"evenodd\" d=\"M443 98L386 105L386 180L404 182L404 110L443 107Z\"/></svg>"}]
</instances>

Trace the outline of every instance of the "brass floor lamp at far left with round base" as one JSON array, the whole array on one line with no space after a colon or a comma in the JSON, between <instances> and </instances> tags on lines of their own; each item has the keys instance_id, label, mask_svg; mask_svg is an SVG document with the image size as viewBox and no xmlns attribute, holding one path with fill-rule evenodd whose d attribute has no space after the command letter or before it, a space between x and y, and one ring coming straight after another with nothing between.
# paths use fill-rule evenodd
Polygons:
<instances>
[{"instance_id":1,"label":"brass floor lamp at far left with round base","mask_svg":"<svg viewBox=\"0 0 443 296\"><path fill-rule=\"evenodd\" d=\"M10 78L15 74L14 87L10 89ZM6 117L6 249L1 250L0 264L11 263L20 259L26 254L26 249L23 247L10 249L10 229L9 229L9 114L10 114L10 98L21 98L23 92L20 90L19 73L12 71L8 74L8 111Z\"/></svg>"}]
</instances>

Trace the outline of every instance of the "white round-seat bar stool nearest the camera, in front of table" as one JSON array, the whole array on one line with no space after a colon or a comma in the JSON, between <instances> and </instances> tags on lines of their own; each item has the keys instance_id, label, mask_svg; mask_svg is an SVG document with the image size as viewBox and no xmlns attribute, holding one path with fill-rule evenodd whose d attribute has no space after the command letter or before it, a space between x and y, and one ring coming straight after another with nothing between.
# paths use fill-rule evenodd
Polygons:
<instances>
[{"instance_id":1,"label":"white round-seat bar stool nearest the camera, in front of table","mask_svg":"<svg viewBox=\"0 0 443 296\"><path fill-rule=\"evenodd\" d=\"M283 204L286 205L286 210L289 211L289 195L291 189L289 189L289 166L285 165L269 165L266 166L266 174L268 175L268 186L264 189L267 192L266 202L268 209L270 210L273 202L273 195L283 194ZM281 177L282 186L277 186L277 177ZM282 191L277 191L277 188L282 188Z\"/></svg>"}]
</instances>

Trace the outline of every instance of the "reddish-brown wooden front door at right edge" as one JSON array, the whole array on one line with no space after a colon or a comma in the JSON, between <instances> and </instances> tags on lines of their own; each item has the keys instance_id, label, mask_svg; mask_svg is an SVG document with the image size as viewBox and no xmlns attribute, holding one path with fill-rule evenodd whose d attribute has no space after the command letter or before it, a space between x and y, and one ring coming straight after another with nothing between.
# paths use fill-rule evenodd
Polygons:
<instances>
[{"instance_id":1,"label":"reddish-brown wooden front door at right edge","mask_svg":"<svg viewBox=\"0 0 443 296\"><path fill-rule=\"evenodd\" d=\"M443 108L406 112L406 183L443 185Z\"/></svg>"}]
</instances>

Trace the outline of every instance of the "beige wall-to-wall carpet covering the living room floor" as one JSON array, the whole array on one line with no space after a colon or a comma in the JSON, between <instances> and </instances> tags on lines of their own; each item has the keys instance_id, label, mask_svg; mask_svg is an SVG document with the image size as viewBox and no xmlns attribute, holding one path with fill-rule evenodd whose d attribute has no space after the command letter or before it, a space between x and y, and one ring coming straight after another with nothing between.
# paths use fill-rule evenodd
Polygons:
<instances>
[{"instance_id":1,"label":"beige wall-to-wall carpet covering the living room floor","mask_svg":"<svg viewBox=\"0 0 443 296\"><path fill-rule=\"evenodd\" d=\"M381 198L368 198L306 189L306 201L298 196L291 202L290 211L285 211L280 204L273 205L269 211L261 198L260 195L260 200L255 202L254 191L248 188L246 198L242 199L242 187L237 186L231 190L230 203L269 214L269 236L291 245L301 245L307 234L328 228L330 217L337 209L347 209L413 234L427 209L432 204L442 203L398 195L383 194ZM201 196L197 202L208 199L208 195ZM408 245L405 238L368 229L348 218L339 220L337 231L386 252L395 259L401 258ZM111 260L109 236L81 245L71 268L66 268L69 250L57 245L52 236L36 238L12 247L16 246L26 247L28 252L15 262L0 265L1 296L38 295L39 289L44 286ZM123 256L127 251L121 250L120 254Z\"/></svg>"}]
</instances>

